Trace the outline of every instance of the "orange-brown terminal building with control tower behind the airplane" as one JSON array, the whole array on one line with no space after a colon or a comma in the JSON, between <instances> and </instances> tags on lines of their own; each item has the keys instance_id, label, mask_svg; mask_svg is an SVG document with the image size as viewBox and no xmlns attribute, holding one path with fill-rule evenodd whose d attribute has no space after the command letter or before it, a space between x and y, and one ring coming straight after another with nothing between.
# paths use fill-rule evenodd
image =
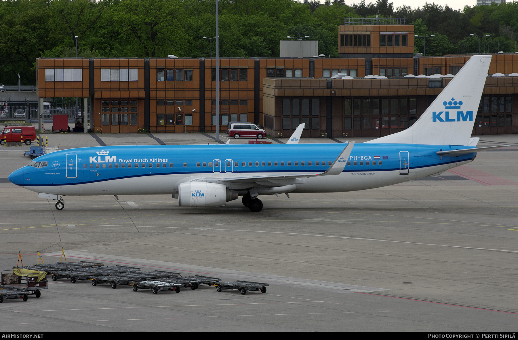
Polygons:
<instances>
[{"instance_id":1,"label":"orange-brown terminal building with control tower behind the airplane","mask_svg":"<svg viewBox=\"0 0 518 340\"><path fill-rule=\"evenodd\" d=\"M405 19L346 18L338 32L339 58L221 58L218 71L213 58L40 58L39 103L84 98L89 129L103 133L224 132L250 121L274 137L299 123L303 137L378 137L415 122L469 59L414 55L419 38ZM518 133L517 72L518 54L493 55L473 134Z\"/></svg>"}]
</instances>

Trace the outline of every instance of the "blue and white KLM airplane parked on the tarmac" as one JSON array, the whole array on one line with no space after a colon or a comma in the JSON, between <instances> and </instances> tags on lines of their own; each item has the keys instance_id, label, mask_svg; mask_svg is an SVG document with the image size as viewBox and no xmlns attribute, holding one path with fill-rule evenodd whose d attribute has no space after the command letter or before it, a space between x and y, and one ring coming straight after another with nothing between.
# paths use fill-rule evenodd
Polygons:
<instances>
[{"instance_id":1,"label":"blue and white KLM airplane parked on the tarmac","mask_svg":"<svg viewBox=\"0 0 518 340\"><path fill-rule=\"evenodd\" d=\"M171 194L180 206L221 207L242 196L390 186L472 162L470 138L491 62L474 55L407 130L362 144L158 145L68 149L42 155L9 180L56 200L66 195ZM500 146L498 146L500 147Z\"/></svg>"}]
</instances>

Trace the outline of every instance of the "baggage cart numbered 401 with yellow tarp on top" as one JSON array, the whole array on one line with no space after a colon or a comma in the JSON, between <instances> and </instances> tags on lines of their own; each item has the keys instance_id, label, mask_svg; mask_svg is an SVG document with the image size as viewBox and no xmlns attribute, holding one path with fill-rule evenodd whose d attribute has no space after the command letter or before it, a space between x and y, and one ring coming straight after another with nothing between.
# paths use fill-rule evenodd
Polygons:
<instances>
[{"instance_id":1,"label":"baggage cart numbered 401 with yellow tarp on top","mask_svg":"<svg viewBox=\"0 0 518 340\"><path fill-rule=\"evenodd\" d=\"M17 274L15 270L5 270L0 272L0 288L18 291L23 295L36 295L36 298L41 296L41 289L48 289L47 275L45 272ZM38 277L43 276L39 281ZM10 299L10 298L9 298Z\"/></svg>"}]
</instances>

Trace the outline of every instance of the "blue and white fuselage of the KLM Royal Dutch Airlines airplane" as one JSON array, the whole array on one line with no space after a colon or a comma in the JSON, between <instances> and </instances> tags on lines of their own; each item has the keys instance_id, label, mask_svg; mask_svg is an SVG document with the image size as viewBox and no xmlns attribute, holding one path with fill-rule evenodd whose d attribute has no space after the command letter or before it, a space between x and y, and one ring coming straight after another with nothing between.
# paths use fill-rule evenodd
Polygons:
<instances>
[{"instance_id":1,"label":"blue and white fuselage of the KLM Royal Dutch Airlines airplane","mask_svg":"<svg viewBox=\"0 0 518 340\"><path fill-rule=\"evenodd\" d=\"M440 150L465 146L355 144L338 175L323 173L346 144L159 145L68 149L42 155L13 172L9 180L25 189L58 195L175 194L182 181L297 175L290 192L343 192L384 187L437 174L471 162L476 153L440 157ZM31 162L31 163L33 163ZM46 166L42 166L47 162ZM274 181L275 183L275 181ZM239 195L261 183L230 183ZM263 187L271 187L271 183ZM263 193L264 194L264 193Z\"/></svg>"}]
</instances>

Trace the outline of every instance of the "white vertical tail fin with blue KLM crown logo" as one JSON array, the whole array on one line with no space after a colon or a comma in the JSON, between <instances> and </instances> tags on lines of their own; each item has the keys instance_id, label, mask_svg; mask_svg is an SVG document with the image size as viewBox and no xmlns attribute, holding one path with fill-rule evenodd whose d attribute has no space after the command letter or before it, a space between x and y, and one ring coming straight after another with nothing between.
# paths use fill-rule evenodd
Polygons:
<instances>
[{"instance_id":1,"label":"white vertical tail fin with blue KLM crown logo","mask_svg":"<svg viewBox=\"0 0 518 340\"><path fill-rule=\"evenodd\" d=\"M365 143L469 145L491 55L473 55L407 130Z\"/></svg>"}]
</instances>

